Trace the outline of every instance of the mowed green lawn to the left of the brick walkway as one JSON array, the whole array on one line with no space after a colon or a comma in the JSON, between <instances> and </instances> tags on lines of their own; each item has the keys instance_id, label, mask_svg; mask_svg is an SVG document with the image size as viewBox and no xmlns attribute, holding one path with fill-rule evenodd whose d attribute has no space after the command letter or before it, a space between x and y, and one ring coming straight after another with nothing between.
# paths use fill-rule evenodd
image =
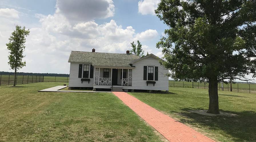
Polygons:
<instances>
[{"instance_id":1,"label":"mowed green lawn to the left of the brick walkway","mask_svg":"<svg viewBox=\"0 0 256 142\"><path fill-rule=\"evenodd\" d=\"M161 141L112 93L37 92L57 85L0 86L0 141Z\"/></svg>"}]
</instances>

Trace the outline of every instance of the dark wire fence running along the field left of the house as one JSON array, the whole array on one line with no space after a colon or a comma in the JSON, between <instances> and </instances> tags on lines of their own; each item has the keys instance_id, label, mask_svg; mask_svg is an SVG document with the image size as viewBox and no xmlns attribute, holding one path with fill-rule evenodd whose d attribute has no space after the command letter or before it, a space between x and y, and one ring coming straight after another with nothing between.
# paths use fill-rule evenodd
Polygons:
<instances>
[{"instance_id":1,"label":"dark wire fence running along the field left of the house","mask_svg":"<svg viewBox=\"0 0 256 142\"><path fill-rule=\"evenodd\" d=\"M69 77L65 76L29 76L16 75L16 84L28 84L37 82L69 82ZM14 75L0 74L0 86L13 85Z\"/></svg>"}]
</instances>

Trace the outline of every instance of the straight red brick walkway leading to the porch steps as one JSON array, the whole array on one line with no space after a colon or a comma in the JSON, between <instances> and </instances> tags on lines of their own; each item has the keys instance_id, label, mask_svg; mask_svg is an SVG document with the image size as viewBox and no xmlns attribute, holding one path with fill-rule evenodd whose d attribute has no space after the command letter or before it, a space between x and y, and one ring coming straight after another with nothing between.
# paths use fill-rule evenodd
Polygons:
<instances>
[{"instance_id":1,"label":"straight red brick walkway leading to the porch steps","mask_svg":"<svg viewBox=\"0 0 256 142\"><path fill-rule=\"evenodd\" d=\"M113 92L169 141L213 141L125 92Z\"/></svg>"}]
</instances>

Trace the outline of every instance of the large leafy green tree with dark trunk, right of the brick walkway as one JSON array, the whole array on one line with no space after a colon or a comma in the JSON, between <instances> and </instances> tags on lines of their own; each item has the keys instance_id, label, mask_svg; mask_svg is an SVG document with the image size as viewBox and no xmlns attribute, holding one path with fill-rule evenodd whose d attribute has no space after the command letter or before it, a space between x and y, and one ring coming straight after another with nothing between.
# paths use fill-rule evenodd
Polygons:
<instances>
[{"instance_id":1,"label":"large leafy green tree with dark trunk, right of the brick walkway","mask_svg":"<svg viewBox=\"0 0 256 142\"><path fill-rule=\"evenodd\" d=\"M209 82L208 113L219 113L218 82L255 77L255 0L161 0L169 29L157 43L175 80Z\"/></svg>"}]
</instances>

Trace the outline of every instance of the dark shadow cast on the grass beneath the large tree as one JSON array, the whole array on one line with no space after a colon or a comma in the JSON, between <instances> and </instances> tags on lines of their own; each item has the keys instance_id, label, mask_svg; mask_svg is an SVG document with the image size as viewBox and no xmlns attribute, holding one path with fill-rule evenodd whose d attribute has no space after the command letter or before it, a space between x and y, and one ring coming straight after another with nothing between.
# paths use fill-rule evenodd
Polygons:
<instances>
[{"instance_id":1,"label":"dark shadow cast on the grass beneath the large tree","mask_svg":"<svg viewBox=\"0 0 256 142\"><path fill-rule=\"evenodd\" d=\"M197 128L209 128L211 131L220 132L221 135L228 137L232 135L233 141L256 141L256 113L254 111L231 112L223 111L237 116L205 116L188 110L203 110L202 108L184 108L185 113L181 115L188 119L180 119L181 123L188 123ZM225 133L229 135L225 135Z\"/></svg>"}]
</instances>

